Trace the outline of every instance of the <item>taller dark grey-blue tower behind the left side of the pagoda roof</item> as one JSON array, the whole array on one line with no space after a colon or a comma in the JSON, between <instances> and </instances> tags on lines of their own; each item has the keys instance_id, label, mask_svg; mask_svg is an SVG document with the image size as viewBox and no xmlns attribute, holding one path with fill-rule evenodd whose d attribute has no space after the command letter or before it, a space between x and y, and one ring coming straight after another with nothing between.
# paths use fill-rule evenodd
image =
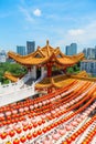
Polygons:
<instances>
[{"instance_id":1,"label":"taller dark grey-blue tower behind the left side of the pagoda roof","mask_svg":"<svg viewBox=\"0 0 96 144\"><path fill-rule=\"evenodd\" d=\"M26 41L26 53L32 53L35 50L35 41Z\"/></svg>"}]
</instances>

